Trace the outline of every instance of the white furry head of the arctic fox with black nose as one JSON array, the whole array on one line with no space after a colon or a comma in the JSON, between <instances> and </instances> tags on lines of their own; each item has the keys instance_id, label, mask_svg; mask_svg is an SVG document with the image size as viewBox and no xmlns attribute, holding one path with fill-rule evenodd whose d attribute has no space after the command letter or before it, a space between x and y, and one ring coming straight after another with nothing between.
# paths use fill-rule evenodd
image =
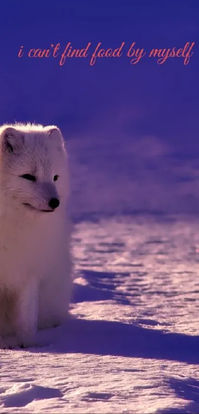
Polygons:
<instances>
[{"instance_id":1,"label":"white furry head of the arctic fox with black nose","mask_svg":"<svg viewBox=\"0 0 199 414\"><path fill-rule=\"evenodd\" d=\"M47 214L69 195L67 154L56 126L15 124L0 128L0 194L7 206Z\"/></svg>"}]
</instances>

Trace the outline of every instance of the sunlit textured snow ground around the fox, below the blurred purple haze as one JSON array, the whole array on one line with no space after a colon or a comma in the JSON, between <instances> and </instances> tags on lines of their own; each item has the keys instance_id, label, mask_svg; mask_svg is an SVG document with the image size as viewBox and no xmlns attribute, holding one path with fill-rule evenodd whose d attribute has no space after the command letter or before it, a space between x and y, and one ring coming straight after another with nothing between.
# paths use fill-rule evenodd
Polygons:
<instances>
[{"instance_id":1,"label":"sunlit textured snow ground around the fox, below the blurred purple haze","mask_svg":"<svg viewBox=\"0 0 199 414\"><path fill-rule=\"evenodd\" d=\"M1 413L198 413L199 223L79 221L72 318L0 351Z\"/></svg>"}]
</instances>

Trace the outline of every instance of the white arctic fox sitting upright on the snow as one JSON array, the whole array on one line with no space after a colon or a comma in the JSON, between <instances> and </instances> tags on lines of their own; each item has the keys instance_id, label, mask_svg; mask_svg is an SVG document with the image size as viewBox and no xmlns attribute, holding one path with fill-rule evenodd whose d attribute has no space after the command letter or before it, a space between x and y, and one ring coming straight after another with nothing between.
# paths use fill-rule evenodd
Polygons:
<instances>
[{"instance_id":1,"label":"white arctic fox sitting upright on the snow","mask_svg":"<svg viewBox=\"0 0 199 414\"><path fill-rule=\"evenodd\" d=\"M67 152L56 126L0 127L0 347L33 346L68 316ZM49 214L50 213L50 214Z\"/></svg>"}]
</instances>

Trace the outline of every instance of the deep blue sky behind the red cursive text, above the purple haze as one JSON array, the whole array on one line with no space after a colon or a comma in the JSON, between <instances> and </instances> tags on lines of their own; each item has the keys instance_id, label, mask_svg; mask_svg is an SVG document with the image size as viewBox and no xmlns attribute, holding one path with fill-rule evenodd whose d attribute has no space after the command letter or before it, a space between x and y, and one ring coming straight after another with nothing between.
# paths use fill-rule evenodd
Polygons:
<instances>
[{"instance_id":1,"label":"deep blue sky behind the red cursive text, above the purple haze","mask_svg":"<svg viewBox=\"0 0 199 414\"><path fill-rule=\"evenodd\" d=\"M1 5L0 122L57 123L69 137L94 124L110 128L120 119L126 139L155 134L179 148L198 148L199 2L196 1L7 1ZM30 48L71 42L90 52L125 42L120 58L30 59ZM163 65L145 56L131 65L125 56L135 41L152 48L196 42L190 63L170 58ZM18 51L24 45L24 56ZM102 137L103 140L103 132ZM106 137L107 139L107 137ZM110 136L110 139L115 137Z\"/></svg>"}]
</instances>

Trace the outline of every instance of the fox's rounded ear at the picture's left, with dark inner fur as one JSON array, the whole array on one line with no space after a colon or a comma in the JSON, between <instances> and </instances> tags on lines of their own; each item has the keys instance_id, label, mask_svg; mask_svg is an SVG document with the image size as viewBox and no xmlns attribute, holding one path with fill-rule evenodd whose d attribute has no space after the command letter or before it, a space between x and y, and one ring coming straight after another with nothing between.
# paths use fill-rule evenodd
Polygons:
<instances>
[{"instance_id":1,"label":"fox's rounded ear at the picture's left, with dark inner fur","mask_svg":"<svg viewBox=\"0 0 199 414\"><path fill-rule=\"evenodd\" d=\"M7 127L2 134L2 150L8 153L17 153L24 144L24 136L13 127Z\"/></svg>"}]
</instances>

